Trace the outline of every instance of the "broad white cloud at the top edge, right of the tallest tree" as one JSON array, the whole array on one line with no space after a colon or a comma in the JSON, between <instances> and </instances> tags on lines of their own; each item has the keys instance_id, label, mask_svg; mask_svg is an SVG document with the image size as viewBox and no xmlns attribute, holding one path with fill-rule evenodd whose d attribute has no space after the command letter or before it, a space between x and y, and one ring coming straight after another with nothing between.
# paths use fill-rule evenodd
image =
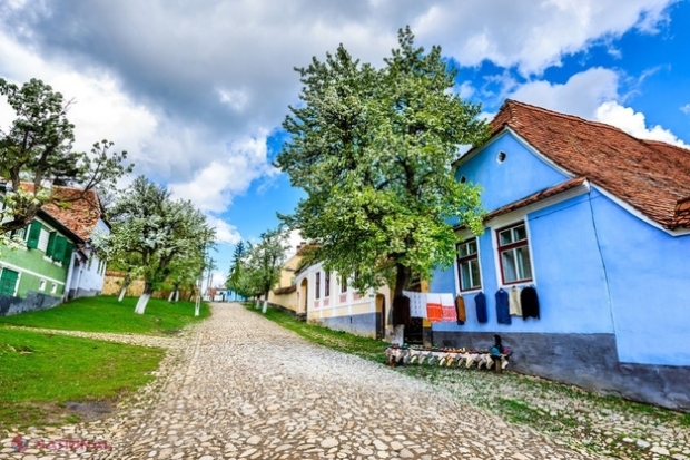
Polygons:
<instances>
[{"instance_id":1,"label":"broad white cloud at the top edge, right of the tallest tree","mask_svg":"<svg viewBox=\"0 0 690 460\"><path fill-rule=\"evenodd\" d=\"M673 0L545 0L434 2L412 22L425 40L465 66L491 60L523 75L559 66L569 53L632 28L654 33Z\"/></svg>"}]
</instances>

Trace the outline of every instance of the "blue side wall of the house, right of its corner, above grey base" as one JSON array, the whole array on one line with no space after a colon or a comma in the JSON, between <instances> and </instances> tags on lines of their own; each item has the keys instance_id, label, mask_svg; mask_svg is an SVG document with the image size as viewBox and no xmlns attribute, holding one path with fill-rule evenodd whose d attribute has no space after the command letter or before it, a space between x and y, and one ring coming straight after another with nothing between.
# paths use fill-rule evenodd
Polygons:
<instances>
[{"instance_id":1,"label":"blue side wall of the house, right of its corner, above grey base","mask_svg":"<svg viewBox=\"0 0 690 460\"><path fill-rule=\"evenodd\" d=\"M619 359L690 365L690 235L672 236L592 194Z\"/></svg>"}]
</instances>

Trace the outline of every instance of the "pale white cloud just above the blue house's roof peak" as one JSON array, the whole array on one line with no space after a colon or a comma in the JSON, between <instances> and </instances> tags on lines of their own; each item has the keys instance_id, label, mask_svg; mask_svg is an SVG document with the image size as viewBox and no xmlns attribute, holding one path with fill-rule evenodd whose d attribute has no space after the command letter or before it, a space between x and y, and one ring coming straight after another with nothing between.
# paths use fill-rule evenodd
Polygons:
<instances>
[{"instance_id":1,"label":"pale white cloud just above the blue house's roof peak","mask_svg":"<svg viewBox=\"0 0 690 460\"><path fill-rule=\"evenodd\" d=\"M573 75L565 84L531 81L509 97L591 119L603 101L618 98L618 82L619 77L613 70L595 67Z\"/></svg>"}]
</instances>

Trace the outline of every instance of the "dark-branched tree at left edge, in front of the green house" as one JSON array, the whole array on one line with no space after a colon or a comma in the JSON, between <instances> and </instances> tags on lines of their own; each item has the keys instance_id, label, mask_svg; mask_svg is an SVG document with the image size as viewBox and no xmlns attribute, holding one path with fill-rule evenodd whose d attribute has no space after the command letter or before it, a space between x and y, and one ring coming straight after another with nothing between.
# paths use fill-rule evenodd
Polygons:
<instances>
[{"instance_id":1,"label":"dark-branched tree at left edge, in front of the green house","mask_svg":"<svg viewBox=\"0 0 690 460\"><path fill-rule=\"evenodd\" d=\"M75 200L92 188L114 188L131 172L132 165L122 165L127 153L109 151L108 140L93 144L90 153L72 150L75 126L67 118L71 101L43 81L31 79L18 87L0 78L0 95L16 112L8 130L0 130L0 179L10 185L4 184L0 236L29 225L49 200L68 199L46 184L80 187L85 193L70 195Z\"/></svg>"}]
</instances>

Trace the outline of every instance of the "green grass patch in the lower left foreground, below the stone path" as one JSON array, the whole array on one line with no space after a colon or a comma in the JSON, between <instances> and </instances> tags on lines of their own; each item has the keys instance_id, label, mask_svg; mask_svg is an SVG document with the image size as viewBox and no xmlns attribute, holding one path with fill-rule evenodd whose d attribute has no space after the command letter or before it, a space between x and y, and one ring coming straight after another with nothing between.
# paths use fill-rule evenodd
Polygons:
<instances>
[{"instance_id":1,"label":"green grass patch in the lower left foreground, below the stone path","mask_svg":"<svg viewBox=\"0 0 690 460\"><path fill-rule=\"evenodd\" d=\"M0 329L0 428L79 419L71 401L114 401L152 379L165 355L88 339Z\"/></svg>"}]
</instances>

